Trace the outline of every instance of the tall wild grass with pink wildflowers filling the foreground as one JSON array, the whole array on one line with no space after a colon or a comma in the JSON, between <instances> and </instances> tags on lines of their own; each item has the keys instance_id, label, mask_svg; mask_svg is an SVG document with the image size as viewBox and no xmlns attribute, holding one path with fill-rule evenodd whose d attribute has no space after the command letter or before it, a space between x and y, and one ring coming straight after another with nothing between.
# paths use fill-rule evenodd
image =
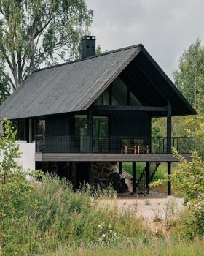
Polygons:
<instances>
[{"instance_id":1,"label":"tall wild grass with pink wildflowers filling the foreground","mask_svg":"<svg viewBox=\"0 0 204 256\"><path fill-rule=\"evenodd\" d=\"M172 228L176 238L146 229L136 207L118 208L111 188L87 186L73 192L66 180L48 174L40 182L25 179L23 184L23 192L15 194L11 188L3 255L165 255L173 250L169 245L186 242L180 239L184 228L176 229L179 222ZM197 255L202 246L197 246Z\"/></svg>"}]
</instances>

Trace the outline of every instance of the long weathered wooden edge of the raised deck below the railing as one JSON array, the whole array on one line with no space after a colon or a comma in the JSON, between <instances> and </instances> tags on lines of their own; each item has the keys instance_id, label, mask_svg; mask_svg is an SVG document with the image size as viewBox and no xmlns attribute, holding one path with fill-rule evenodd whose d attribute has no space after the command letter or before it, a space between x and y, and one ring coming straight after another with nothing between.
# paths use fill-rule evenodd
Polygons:
<instances>
[{"instance_id":1,"label":"long weathered wooden edge of the raised deck below the railing","mask_svg":"<svg viewBox=\"0 0 204 256\"><path fill-rule=\"evenodd\" d=\"M182 154L188 161L189 154ZM36 153L36 162L179 162L173 154Z\"/></svg>"}]
</instances>

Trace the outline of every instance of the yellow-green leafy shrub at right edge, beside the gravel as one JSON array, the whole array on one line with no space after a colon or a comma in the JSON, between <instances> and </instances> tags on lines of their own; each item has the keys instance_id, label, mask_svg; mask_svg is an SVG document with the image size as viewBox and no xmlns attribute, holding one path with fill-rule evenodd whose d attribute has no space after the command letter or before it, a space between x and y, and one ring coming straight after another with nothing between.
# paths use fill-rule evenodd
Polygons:
<instances>
[{"instance_id":1,"label":"yellow-green leafy shrub at right edge, beside the gravel","mask_svg":"<svg viewBox=\"0 0 204 256\"><path fill-rule=\"evenodd\" d=\"M204 162L197 152L192 153L192 160L187 160L173 149L173 154L179 159L178 165L171 174L170 181L176 194L184 197L184 203L189 208L191 221L187 221L186 230L193 230L191 233L204 235ZM167 180L155 181L151 186L161 185ZM193 236L192 235L192 236Z\"/></svg>"}]
</instances>

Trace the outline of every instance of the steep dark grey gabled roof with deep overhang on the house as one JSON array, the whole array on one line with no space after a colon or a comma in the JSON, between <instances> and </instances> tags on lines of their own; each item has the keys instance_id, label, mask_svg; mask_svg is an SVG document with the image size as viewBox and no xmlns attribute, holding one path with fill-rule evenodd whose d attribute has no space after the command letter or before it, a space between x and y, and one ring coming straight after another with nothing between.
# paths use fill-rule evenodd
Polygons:
<instances>
[{"instance_id":1,"label":"steep dark grey gabled roof with deep overhang on the house","mask_svg":"<svg viewBox=\"0 0 204 256\"><path fill-rule=\"evenodd\" d=\"M151 68L153 78L150 75L149 78L145 79L149 79L148 86L150 85L150 87L151 79L154 80L152 90L157 90L157 97L161 104L170 101L173 111L175 109L175 115L196 113L176 89L176 86L162 72L162 69L149 56L143 45L133 45L129 48L114 50L87 59L36 70L0 106L0 119L5 117L9 119L28 118L87 110L118 75L128 75L128 72L125 73L128 67L131 67L130 73L135 73L130 79L132 86L134 85L137 67L141 69L140 66L145 64L145 61L136 62L137 59L138 61L145 59ZM146 72L145 67L144 72ZM154 77L154 75L156 76ZM155 88L157 81L158 88ZM165 86L165 88L161 86ZM142 90L149 94L149 89L145 88L145 83L142 87ZM150 92L149 95L152 96L152 93ZM146 103L151 105L148 100L145 102L144 99L143 102L144 105Z\"/></svg>"}]
</instances>

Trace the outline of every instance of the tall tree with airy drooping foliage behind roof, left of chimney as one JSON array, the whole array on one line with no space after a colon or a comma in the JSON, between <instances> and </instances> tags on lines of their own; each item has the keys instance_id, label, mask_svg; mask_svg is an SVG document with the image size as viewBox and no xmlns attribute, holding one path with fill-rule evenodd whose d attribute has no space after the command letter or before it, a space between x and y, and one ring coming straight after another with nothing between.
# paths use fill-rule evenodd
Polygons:
<instances>
[{"instance_id":1,"label":"tall tree with airy drooping foliage behind roof, left of chimney","mask_svg":"<svg viewBox=\"0 0 204 256\"><path fill-rule=\"evenodd\" d=\"M1 101L40 65L78 59L92 18L85 0L0 0Z\"/></svg>"}]
</instances>

